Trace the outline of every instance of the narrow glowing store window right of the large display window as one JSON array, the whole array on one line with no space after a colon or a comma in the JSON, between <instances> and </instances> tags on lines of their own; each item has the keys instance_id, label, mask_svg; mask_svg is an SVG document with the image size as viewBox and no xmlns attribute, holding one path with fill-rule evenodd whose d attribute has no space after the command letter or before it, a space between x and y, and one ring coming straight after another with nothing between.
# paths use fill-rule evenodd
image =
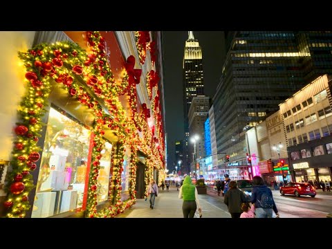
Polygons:
<instances>
[{"instance_id":1,"label":"narrow glowing store window right of the large display window","mask_svg":"<svg viewBox=\"0 0 332 249\"><path fill-rule=\"evenodd\" d=\"M105 142L104 149L100 151L102 158L100 159L100 169L97 178L97 201L107 201L109 196L109 179L112 177L109 173L111 170L112 145Z\"/></svg>"}]
</instances>

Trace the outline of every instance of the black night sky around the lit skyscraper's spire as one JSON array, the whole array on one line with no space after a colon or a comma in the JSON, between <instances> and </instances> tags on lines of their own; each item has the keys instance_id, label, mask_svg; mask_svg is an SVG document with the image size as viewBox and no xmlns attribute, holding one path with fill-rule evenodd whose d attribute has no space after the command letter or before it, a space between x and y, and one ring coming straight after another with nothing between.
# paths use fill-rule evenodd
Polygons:
<instances>
[{"instance_id":1,"label":"black night sky around the lit skyscraper's spire","mask_svg":"<svg viewBox=\"0 0 332 249\"><path fill-rule=\"evenodd\" d=\"M194 31L203 54L205 95L213 97L219 83L225 57L222 31ZM183 55L187 31L163 31L163 71L165 87L165 122L167 133L167 168L175 161L175 141L183 139Z\"/></svg>"}]
</instances>

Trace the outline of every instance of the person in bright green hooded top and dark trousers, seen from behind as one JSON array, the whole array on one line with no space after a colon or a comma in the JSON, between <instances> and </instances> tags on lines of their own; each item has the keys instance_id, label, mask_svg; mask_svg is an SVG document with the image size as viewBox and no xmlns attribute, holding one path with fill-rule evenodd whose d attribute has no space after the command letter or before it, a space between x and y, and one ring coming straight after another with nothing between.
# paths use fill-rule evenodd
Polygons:
<instances>
[{"instance_id":1,"label":"person in bright green hooded top and dark trousers, seen from behind","mask_svg":"<svg viewBox=\"0 0 332 249\"><path fill-rule=\"evenodd\" d=\"M199 205L199 193L194 184L192 184L192 178L185 176L185 181L180 188L178 198L183 199L182 212L183 218L194 218L197 207L201 214L201 205Z\"/></svg>"}]
</instances>

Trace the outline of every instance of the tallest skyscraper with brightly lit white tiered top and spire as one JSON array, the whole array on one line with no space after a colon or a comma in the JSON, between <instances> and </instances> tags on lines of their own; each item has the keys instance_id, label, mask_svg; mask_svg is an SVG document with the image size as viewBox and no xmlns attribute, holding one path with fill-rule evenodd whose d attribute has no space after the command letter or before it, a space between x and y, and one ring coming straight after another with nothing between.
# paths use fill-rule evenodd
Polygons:
<instances>
[{"instance_id":1,"label":"tallest skyscraper with brightly lit white tiered top and spire","mask_svg":"<svg viewBox=\"0 0 332 249\"><path fill-rule=\"evenodd\" d=\"M188 31L188 39L185 42L185 54L183 57L183 118L185 131L183 140L183 166L186 173L190 172L188 112L190 104L192 104L192 98L197 95L204 95L202 49L199 46L199 41L194 38L194 33Z\"/></svg>"}]
</instances>

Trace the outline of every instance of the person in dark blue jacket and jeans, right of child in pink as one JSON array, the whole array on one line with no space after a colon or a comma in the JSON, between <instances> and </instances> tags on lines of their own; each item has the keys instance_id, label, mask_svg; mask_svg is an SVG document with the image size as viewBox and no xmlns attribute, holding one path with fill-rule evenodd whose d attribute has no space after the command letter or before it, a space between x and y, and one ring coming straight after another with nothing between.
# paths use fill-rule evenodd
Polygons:
<instances>
[{"instance_id":1,"label":"person in dark blue jacket and jeans, right of child in pink","mask_svg":"<svg viewBox=\"0 0 332 249\"><path fill-rule=\"evenodd\" d=\"M272 192L264 184L261 176L254 176L252 180L254 187L252 188L251 203L255 205L256 218L272 218L273 211L279 217Z\"/></svg>"}]
</instances>

